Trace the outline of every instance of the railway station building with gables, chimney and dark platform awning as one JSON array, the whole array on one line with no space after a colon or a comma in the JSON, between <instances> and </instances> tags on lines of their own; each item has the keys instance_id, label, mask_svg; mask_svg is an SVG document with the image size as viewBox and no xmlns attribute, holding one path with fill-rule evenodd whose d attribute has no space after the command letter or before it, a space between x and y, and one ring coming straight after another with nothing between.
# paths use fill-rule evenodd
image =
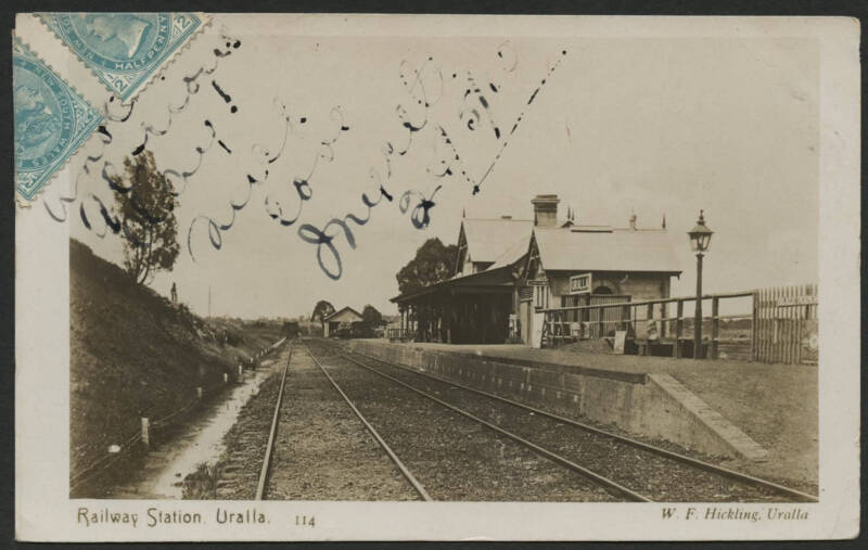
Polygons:
<instances>
[{"instance_id":1,"label":"railway station building with gables, chimney and dark platform awning","mask_svg":"<svg viewBox=\"0 0 868 550\"><path fill-rule=\"evenodd\" d=\"M532 220L462 219L456 274L392 298L405 337L538 347L548 308L669 297L681 270L665 221L640 229L634 215L624 228L583 226L572 214L559 220L557 195L531 202Z\"/></svg>"}]
</instances>

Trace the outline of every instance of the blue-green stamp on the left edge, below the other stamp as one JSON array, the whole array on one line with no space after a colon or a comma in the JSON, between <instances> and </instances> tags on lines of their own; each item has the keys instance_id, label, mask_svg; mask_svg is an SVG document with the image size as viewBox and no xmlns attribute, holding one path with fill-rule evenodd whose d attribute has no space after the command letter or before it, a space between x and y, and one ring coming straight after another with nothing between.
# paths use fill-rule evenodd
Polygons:
<instances>
[{"instance_id":1,"label":"blue-green stamp on the left edge, below the other stamp","mask_svg":"<svg viewBox=\"0 0 868 550\"><path fill-rule=\"evenodd\" d=\"M12 39L15 191L30 201L102 123L102 115Z\"/></svg>"}]
</instances>

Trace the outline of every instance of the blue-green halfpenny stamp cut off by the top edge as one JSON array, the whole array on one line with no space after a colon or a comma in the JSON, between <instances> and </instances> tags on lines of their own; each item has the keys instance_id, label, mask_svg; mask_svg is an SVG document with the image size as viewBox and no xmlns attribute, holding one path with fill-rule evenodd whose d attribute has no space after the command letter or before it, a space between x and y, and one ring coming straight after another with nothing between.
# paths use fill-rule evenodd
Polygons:
<instances>
[{"instance_id":1,"label":"blue-green halfpenny stamp cut off by the top edge","mask_svg":"<svg viewBox=\"0 0 868 550\"><path fill-rule=\"evenodd\" d=\"M204 21L194 13L40 13L122 101L132 99Z\"/></svg>"}]
</instances>

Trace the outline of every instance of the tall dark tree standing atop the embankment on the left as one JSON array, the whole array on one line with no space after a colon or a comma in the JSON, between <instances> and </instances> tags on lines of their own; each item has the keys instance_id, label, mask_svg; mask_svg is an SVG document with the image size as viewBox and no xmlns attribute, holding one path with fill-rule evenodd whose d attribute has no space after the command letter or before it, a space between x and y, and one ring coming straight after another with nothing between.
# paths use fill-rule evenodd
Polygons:
<instances>
[{"instance_id":1,"label":"tall dark tree standing atop the embankment on the left","mask_svg":"<svg viewBox=\"0 0 868 550\"><path fill-rule=\"evenodd\" d=\"M124 177L111 179L124 225L124 268L143 284L155 272L171 270L178 258L178 201L150 151L125 158Z\"/></svg>"}]
</instances>

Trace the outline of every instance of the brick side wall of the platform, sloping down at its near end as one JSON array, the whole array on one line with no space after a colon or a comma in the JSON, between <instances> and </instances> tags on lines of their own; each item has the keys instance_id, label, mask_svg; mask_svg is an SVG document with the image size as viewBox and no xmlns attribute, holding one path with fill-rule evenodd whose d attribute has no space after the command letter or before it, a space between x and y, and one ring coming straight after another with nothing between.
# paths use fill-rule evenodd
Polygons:
<instances>
[{"instance_id":1,"label":"brick side wall of the platform, sloping down at its near end","mask_svg":"<svg viewBox=\"0 0 868 550\"><path fill-rule=\"evenodd\" d=\"M520 399L571 410L595 422L666 439L710 456L764 460L765 449L672 376L607 372L600 369L548 370L436 353L370 341L349 349L432 372Z\"/></svg>"}]
</instances>

